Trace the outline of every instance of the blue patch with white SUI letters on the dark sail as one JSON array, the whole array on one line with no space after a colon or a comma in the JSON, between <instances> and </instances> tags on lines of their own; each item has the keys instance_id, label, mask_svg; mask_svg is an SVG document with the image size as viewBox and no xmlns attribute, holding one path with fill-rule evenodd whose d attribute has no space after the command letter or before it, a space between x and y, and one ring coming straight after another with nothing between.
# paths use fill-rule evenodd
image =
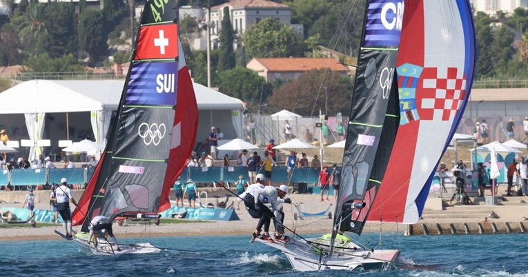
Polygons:
<instances>
[{"instance_id":1,"label":"blue patch with white SUI letters on the dark sail","mask_svg":"<svg viewBox=\"0 0 528 277\"><path fill-rule=\"evenodd\" d=\"M178 63L133 63L126 105L176 105Z\"/></svg>"}]
</instances>

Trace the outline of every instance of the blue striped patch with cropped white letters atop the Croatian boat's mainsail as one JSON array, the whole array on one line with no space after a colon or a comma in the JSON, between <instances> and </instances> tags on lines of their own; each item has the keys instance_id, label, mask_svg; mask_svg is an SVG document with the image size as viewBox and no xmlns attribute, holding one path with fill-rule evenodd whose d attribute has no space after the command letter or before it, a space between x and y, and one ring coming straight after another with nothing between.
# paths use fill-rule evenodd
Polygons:
<instances>
[{"instance_id":1,"label":"blue striped patch with cropped white letters atop the Croatian boat's mainsail","mask_svg":"<svg viewBox=\"0 0 528 277\"><path fill-rule=\"evenodd\" d=\"M400 45L403 0L372 0L366 14L365 46Z\"/></svg>"}]
</instances>

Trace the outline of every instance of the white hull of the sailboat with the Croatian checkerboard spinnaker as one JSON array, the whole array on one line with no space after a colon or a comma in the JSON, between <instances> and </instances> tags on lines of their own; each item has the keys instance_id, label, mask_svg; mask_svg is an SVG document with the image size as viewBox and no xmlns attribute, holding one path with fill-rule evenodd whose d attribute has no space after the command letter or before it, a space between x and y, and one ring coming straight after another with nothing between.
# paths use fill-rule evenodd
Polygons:
<instances>
[{"instance_id":1,"label":"white hull of the sailboat with the Croatian checkerboard spinnaker","mask_svg":"<svg viewBox=\"0 0 528 277\"><path fill-rule=\"evenodd\" d=\"M394 267L393 263L400 251L395 249L388 250L369 250L361 249L357 245L351 247L333 249L332 256L328 254L316 254L313 247L304 240L290 239L286 243L275 241L273 243L267 240L256 239L275 249L279 249L286 255L293 269L298 271L315 271L326 269L338 270L384 270ZM357 249L354 249L354 246ZM318 245L323 252L329 250L328 245Z\"/></svg>"}]
</instances>

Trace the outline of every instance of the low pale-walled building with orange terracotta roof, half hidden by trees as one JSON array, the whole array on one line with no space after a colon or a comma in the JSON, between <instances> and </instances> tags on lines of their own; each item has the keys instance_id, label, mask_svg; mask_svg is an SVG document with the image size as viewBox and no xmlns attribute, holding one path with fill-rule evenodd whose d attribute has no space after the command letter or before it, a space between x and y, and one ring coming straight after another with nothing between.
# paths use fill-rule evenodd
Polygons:
<instances>
[{"instance_id":1,"label":"low pale-walled building with orange terracotta roof, half hidden by trees","mask_svg":"<svg viewBox=\"0 0 528 277\"><path fill-rule=\"evenodd\" d=\"M246 68L257 72L266 81L295 80L306 71L323 68L330 68L343 76L349 73L346 66L332 58L255 58L249 61Z\"/></svg>"}]
</instances>

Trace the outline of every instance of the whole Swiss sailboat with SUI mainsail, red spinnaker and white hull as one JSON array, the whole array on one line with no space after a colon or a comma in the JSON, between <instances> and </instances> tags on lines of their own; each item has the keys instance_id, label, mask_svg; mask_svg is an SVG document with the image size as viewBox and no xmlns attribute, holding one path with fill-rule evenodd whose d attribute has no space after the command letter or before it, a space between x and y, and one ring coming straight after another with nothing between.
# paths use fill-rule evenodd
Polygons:
<instances>
[{"instance_id":1,"label":"whole Swiss sailboat with SUI mainsail, red spinnaker and white hull","mask_svg":"<svg viewBox=\"0 0 528 277\"><path fill-rule=\"evenodd\" d=\"M119 252L106 241L95 247L88 232L99 215L159 218L170 208L170 188L193 150L198 108L175 10L166 1L145 3L108 145L72 214L72 225L81 225L72 240L85 252L159 252L150 243L119 245Z\"/></svg>"}]
</instances>

